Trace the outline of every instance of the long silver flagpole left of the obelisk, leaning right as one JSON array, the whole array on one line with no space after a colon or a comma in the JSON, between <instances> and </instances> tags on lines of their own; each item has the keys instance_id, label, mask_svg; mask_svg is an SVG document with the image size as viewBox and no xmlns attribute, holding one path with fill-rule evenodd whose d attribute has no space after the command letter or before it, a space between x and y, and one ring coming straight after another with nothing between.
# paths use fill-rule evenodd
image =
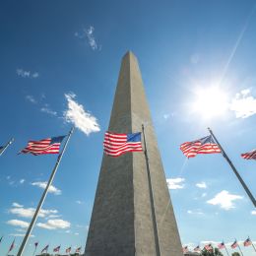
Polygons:
<instances>
[{"instance_id":1,"label":"long silver flagpole left of the obelisk, leaning right","mask_svg":"<svg viewBox=\"0 0 256 256\"><path fill-rule=\"evenodd\" d=\"M59 166L60 160L62 159L62 156L63 156L63 154L64 154L64 152L65 152L65 150L66 150L66 148L67 148L68 142L69 142L69 140L70 140L70 137L71 137L73 131L74 131L74 127L72 127L72 129L70 130L70 132L69 132L69 134L68 134L68 138L67 138L67 140L66 140L66 142L65 142L65 145L64 145L64 147L63 147L63 150L62 150L61 154L59 155L59 157L58 157L58 159L57 159L57 161L56 161L56 163L55 163L55 166L54 166L54 168L53 168L53 170L52 170L52 172L51 172L51 175L50 175L50 178L49 178L49 180L48 180L48 183L47 183L47 185L46 185L46 187L45 187L45 189L44 189L44 192L43 192L43 194L42 194L42 196L41 196L41 199L40 199L40 201L39 201L39 204L38 204L38 206L37 206L37 208L36 208L36 210L35 210L35 212L34 212L34 215L33 215L33 217L32 217L32 222L31 222L31 224L30 224L30 226L29 226L29 228L28 228L28 230L27 230L26 235L24 236L22 245L20 246L20 249L19 249L19 252L18 252L17 256L23 255L23 251L24 251L24 249L25 249L25 246L26 246L26 244L27 244L27 242L28 242L28 239L29 239L29 237L30 237L30 235L31 235L31 232L32 232L33 224L36 222L38 213L39 213L39 211L40 211L40 209L41 209L41 206L42 206L42 204L43 204L43 202L44 202L44 200L45 200L45 197L46 197L46 195L47 195L48 189L49 189L49 187L50 187L50 185L51 185L51 183L52 183L52 180L53 180L53 178L54 178L54 176L55 176L55 174L56 174L56 171L57 171L57 168L58 168L58 166Z\"/></svg>"}]
</instances>

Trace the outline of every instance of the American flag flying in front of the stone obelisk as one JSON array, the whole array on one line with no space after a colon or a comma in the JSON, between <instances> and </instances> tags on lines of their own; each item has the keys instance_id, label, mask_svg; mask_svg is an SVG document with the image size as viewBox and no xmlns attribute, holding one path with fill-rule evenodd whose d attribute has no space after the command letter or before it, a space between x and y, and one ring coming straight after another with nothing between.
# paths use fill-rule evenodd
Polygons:
<instances>
[{"instance_id":1,"label":"American flag flying in front of the stone obelisk","mask_svg":"<svg viewBox=\"0 0 256 256\"><path fill-rule=\"evenodd\" d=\"M111 133L104 136L104 153L111 157L119 157L126 152L142 152L141 133Z\"/></svg>"}]
</instances>

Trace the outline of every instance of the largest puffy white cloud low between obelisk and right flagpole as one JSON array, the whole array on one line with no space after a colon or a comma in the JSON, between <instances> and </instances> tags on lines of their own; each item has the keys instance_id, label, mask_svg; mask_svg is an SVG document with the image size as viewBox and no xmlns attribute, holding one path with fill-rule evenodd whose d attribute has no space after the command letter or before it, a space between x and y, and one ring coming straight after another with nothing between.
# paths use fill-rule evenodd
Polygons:
<instances>
[{"instance_id":1,"label":"largest puffy white cloud low between obelisk and right flagpole","mask_svg":"<svg viewBox=\"0 0 256 256\"><path fill-rule=\"evenodd\" d=\"M228 191L223 190L218 193L213 199L208 200L207 203L214 206L220 206L224 210L234 208L233 201L242 199L242 196L229 194Z\"/></svg>"}]
</instances>

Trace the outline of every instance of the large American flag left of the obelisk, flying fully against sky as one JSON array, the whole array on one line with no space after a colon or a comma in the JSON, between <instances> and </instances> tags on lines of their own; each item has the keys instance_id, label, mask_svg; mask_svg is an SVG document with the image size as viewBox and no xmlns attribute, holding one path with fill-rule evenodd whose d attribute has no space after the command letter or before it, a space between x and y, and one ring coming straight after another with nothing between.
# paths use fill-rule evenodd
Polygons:
<instances>
[{"instance_id":1,"label":"large American flag left of the obelisk, flying fully against sky","mask_svg":"<svg viewBox=\"0 0 256 256\"><path fill-rule=\"evenodd\" d=\"M28 146L20 153L32 154L34 156L43 154L59 154L62 140L66 136L52 137L40 141L30 141Z\"/></svg>"}]
</instances>

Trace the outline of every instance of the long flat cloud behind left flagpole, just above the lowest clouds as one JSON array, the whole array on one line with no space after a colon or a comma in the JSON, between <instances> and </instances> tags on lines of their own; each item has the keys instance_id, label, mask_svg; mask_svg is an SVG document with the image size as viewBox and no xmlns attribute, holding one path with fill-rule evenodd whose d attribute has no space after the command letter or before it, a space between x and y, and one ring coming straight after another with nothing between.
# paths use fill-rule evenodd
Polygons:
<instances>
[{"instance_id":1,"label":"long flat cloud behind left flagpole, just above the lowest clouds","mask_svg":"<svg viewBox=\"0 0 256 256\"><path fill-rule=\"evenodd\" d=\"M16 203L14 203L16 204ZM14 206L13 204L13 206ZM23 218L32 218L33 214L35 212L34 208L24 208L23 206L19 205L19 207L15 207L15 208L11 208L9 209L9 213L13 214L13 215L17 215L19 217L23 217ZM44 218L47 216L50 216L52 214L57 214L58 211L57 210L45 210L45 209L41 209L38 217Z\"/></svg>"}]
</instances>

